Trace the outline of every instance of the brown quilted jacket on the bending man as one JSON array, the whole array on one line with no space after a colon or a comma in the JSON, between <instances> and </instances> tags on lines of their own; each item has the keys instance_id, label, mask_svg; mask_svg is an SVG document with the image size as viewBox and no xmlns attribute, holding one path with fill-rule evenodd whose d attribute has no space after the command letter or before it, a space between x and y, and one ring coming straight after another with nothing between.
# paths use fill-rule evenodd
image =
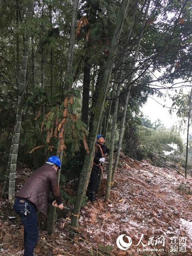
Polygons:
<instances>
[{"instance_id":1,"label":"brown quilted jacket on the bending man","mask_svg":"<svg viewBox=\"0 0 192 256\"><path fill-rule=\"evenodd\" d=\"M57 204L61 204L57 171L51 165L44 164L28 178L16 197L27 198L37 206L39 211L46 215L50 191L52 191Z\"/></svg>"}]
</instances>

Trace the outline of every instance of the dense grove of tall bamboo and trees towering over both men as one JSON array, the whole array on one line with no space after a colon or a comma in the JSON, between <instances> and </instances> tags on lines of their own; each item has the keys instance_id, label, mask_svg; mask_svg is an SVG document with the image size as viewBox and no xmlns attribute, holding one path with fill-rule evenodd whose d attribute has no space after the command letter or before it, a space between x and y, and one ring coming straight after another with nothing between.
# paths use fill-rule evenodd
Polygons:
<instances>
[{"instance_id":1,"label":"dense grove of tall bamboo and trees towering over both men","mask_svg":"<svg viewBox=\"0 0 192 256\"><path fill-rule=\"evenodd\" d=\"M96 134L111 150L107 200L130 136L125 127L136 125L149 95L174 89L178 78L180 87L188 85L190 1L0 1L0 13L0 132L9 152L4 195L15 198L18 161L35 169L57 154L61 174L68 167L78 178L74 231ZM52 233L52 207L48 218Z\"/></svg>"}]
</instances>

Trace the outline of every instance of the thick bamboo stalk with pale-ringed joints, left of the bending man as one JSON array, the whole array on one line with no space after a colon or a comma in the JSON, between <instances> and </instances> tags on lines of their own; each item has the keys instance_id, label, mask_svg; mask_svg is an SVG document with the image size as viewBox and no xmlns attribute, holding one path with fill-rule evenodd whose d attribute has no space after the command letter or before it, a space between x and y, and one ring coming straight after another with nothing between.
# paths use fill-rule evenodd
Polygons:
<instances>
[{"instance_id":1,"label":"thick bamboo stalk with pale-ringed joints, left of the bending man","mask_svg":"<svg viewBox=\"0 0 192 256\"><path fill-rule=\"evenodd\" d=\"M20 137L20 128L21 128L21 119L22 119L22 109L20 107L22 96L26 90L26 72L27 72L27 64L28 64L28 52L29 52L29 44L30 44L30 33L31 33L31 18L33 14L33 0L28 1L28 13L27 20L29 26L26 28L25 32L25 42L24 42L24 56L22 58L22 70L21 70L21 82L20 89L18 95L18 103L17 103L17 128L15 132L15 138L13 143L13 150L11 154L10 160L10 174L9 174L9 200L13 201L15 198L15 174L16 174L16 165L17 165L17 154L18 154L18 144Z\"/></svg>"}]
</instances>

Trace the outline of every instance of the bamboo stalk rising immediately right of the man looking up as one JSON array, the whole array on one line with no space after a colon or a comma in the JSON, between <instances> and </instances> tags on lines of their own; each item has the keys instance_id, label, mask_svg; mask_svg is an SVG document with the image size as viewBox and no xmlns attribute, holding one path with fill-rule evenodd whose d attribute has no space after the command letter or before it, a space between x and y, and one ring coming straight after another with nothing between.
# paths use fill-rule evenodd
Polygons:
<instances>
[{"instance_id":1,"label":"bamboo stalk rising immediately right of the man looking up","mask_svg":"<svg viewBox=\"0 0 192 256\"><path fill-rule=\"evenodd\" d=\"M119 74L118 80L122 82L123 79L123 73L124 73L124 67L125 67L125 62L126 62L126 52L128 50L128 43L129 39L131 37L132 33L132 28L135 20L135 14L136 14L136 9L137 9L137 3L135 4L134 10L133 10L133 15L132 15L132 22L129 25L129 32L127 34L127 40L126 40L126 47L124 48L123 51L123 59L122 59L122 65L121 65L121 70ZM113 121L111 125L111 140L110 140L110 152L109 152L109 164L108 164L108 172L107 172L107 194L106 194L106 200L110 198L111 195L111 178L112 178L112 169L113 169L113 148L114 148L114 135L115 135L115 130L116 130L116 119L117 119L117 111L118 111L118 105L119 105L119 95L120 95L120 89L121 89L121 83L118 83L117 85L117 91L116 91L116 100L114 104L114 112L113 112Z\"/></svg>"}]
</instances>

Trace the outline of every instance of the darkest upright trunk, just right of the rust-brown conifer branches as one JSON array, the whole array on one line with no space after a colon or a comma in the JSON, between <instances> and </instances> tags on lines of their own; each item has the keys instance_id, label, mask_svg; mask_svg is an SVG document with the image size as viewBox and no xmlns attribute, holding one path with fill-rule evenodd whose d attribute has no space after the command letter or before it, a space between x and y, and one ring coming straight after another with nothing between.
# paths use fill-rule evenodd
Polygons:
<instances>
[{"instance_id":1,"label":"darkest upright trunk, just right of the rust-brown conifer branches","mask_svg":"<svg viewBox=\"0 0 192 256\"><path fill-rule=\"evenodd\" d=\"M89 58L85 60L85 67L83 70L83 102L81 110L81 121L88 126L89 119L89 89L90 89L90 64Z\"/></svg>"}]
</instances>

